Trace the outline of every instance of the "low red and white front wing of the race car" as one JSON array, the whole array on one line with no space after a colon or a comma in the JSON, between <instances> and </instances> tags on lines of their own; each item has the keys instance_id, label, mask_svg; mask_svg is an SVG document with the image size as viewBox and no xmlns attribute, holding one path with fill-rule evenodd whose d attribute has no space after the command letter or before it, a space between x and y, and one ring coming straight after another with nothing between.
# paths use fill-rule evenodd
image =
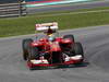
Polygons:
<instances>
[{"instance_id":1,"label":"low red and white front wing of the race car","mask_svg":"<svg viewBox=\"0 0 109 82\"><path fill-rule=\"evenodd\" d=\"M29 60L27 61L27 66L29 68L38 68L38 67L55 67L55 66L61 66L61 65L74 65L81 62L83 59L82 55L73 56L73 57L65 57L64 62L62 63L49 63L47 59L40 59L40 60Z\"/></svg>"}]
</instances>

